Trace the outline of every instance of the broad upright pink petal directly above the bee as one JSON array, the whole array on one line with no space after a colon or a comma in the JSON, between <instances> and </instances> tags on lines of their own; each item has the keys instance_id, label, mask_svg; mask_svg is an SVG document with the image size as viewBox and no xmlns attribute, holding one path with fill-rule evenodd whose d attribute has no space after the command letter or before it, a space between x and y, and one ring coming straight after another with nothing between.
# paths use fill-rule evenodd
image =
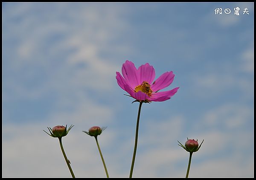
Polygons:
<instances>
[{"instance_id":1,"label":"broad upright pink petal directly above the bee","mask_svg":"<svg viewBox=\"0 0 256 180\"><path fill-rule=\"evenodd\" d=\"M140 84L143 81L147 81L149 84L151 84L155 78L154 67L150 66L148 63L141 65L138 69L137 75Z\"/></svg>"}]
</instances>

